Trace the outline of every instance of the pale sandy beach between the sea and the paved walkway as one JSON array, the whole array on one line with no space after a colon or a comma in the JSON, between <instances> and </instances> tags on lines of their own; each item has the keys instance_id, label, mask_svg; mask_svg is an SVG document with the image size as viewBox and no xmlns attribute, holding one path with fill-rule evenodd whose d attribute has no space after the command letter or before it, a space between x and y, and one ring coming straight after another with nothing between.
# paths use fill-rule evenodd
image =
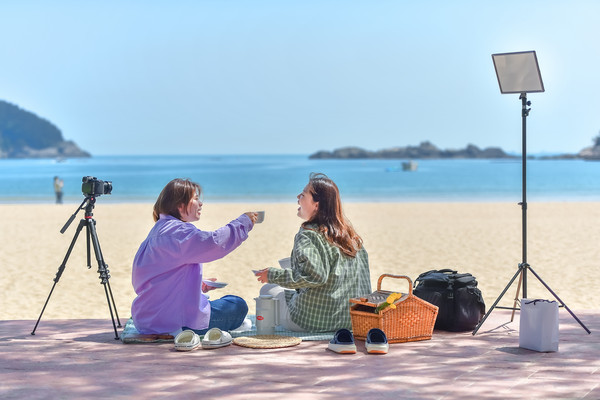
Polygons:
<instances>
[{"instance_id":1,"label":"pale sandy beach between the sea and the paved walkway","mask_svg":"<svg viewBox=\"0 0 600 400\"><path fill-rule=\"evenodd\" d=\"M76 204L0 205L0 319L37 319L75 234L80 211L59 231ZM251 269L276 267L288 257L301 220L295 203L205 204L197 225L215 229L245 211L266 217L240 248L205 264L205 276L228 282L211 292L242 296L254 312L260 284ZM373 289L381 274L415 279L431 269L453 268L477 277L486 305L500 295L522 260L521 208L516 203L348 203L345 212L369 253ZM131 264L153 225L152 204L96 203L94 218L120 318L130 316L135 298ZM600 307L600 203L529 203L528 262L574 311ZM85 231L84 231L85 232ZM551 299L531 274L528 297ZM384 279L383 289L406 292L403 280ZM500 305L512 305L516 282ZM110 318L92 254L86 267L82 233L52 294L43 319Z\"/></svg>"}]
</instances>

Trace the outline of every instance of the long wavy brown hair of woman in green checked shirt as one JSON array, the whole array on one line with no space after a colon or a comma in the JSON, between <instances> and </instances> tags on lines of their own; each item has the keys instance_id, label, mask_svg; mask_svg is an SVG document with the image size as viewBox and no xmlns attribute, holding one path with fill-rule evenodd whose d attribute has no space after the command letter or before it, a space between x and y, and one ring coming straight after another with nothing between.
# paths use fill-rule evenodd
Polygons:
<instances>
[{"instance_id":1,"label":"long wavy brown hair of woman in green checked shirt","mask_svg":"<svg viewBox=\"0 0 600 400\"><path fill-rule=\"evenodd\" d=\"M315 214L302 227L308 228L309 225L316 224L329 243L339 247L347 256L356 257L363 242L344 216L337 185L327 175L313 172L307 187L313 201L319 205Z\"/></svg>"}]
</instances>

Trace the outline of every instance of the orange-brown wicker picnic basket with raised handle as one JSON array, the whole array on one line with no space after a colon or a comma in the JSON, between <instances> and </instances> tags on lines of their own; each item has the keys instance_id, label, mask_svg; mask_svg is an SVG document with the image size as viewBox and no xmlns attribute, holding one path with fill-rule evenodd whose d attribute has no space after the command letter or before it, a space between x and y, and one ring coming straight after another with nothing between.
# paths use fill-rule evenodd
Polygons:
<instances>
[{"instance_id":1,"label":"orange-brown wicker picnic basket with raised handle","mask_svg":"<svg viewBox=\"0 0 600 400\"><path fill-rule=\"evenodd\" d=\"M381 290L385 277L406 279L408 294L394 302L396 308L387 307L376 313L377 306L385 302L392 293ZM354 337L366 340L367 332L379 328L389 343L415 342L431 339L438 307L413 295L413 283L408 276L383 274L377 281L377 291L366 297L350 299L350 318Z\"/></svg>"}]
</instances>

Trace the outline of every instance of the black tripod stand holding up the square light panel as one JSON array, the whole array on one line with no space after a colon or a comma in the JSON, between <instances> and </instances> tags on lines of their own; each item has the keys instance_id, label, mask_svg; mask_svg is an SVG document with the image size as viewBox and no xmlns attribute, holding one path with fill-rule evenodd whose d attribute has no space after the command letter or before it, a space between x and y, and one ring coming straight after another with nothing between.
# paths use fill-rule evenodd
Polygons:
<instances>
[{"instance_id":1,"label":"black tripod stand holding up the square light panel","mask_svg":"<svg viewBox=\"0 0 600 400\"><path fill-rule=\"evenodd\" d=\"M522 227L523 227L523 262L521 264L519 264L519 268L517 270L517 272L514 274L514 276L512 277L512 279L510 280L510 282L508 282L508 284L506 285L506 287L504 288L504 290L502 291L502 293L500 293L500 296L498 296L498 298L496 299L496 301L494 302L494 304L490 307L490 309L488 310L488 312L483 316L483 318L481 319L481 321L479 322L479 324L477 324L477 326L475 327L475 330L473 331L473 335L475 335L477 333L477 331L479 330L479 328L481 327L481 325L483 325L483 323L485 322L485 320L487 319L487 317L491 314L491 312L494 310L494 308L496 308L496 305L500 302L500 300L502 299L502 296L504 296L504 294L506 293L506 291L510 288L510 286L512 285L512 283L515 281L515 279L517 278L517 276L521 275L521 279L519 283L523 284L523 298L526 299L527 298L527 271L530 271L537 279L538 281L541 282L542 285L544 285L544 287L546 289L548 289L548 291L550 293L552 293L552 295L554 296L554 298L556 300L558 300L558 302L560 303L561 307L564 307L569 314L571 314L573 316L573 318L575 318L575 320L577 322L579 322L579 325L581 325L583 327L583 329L585 329L587 331L587 333L591 333L590 330L579 320L579 318L577 318L577 316L575 314L573 314L573 312L571 311L571 309L569 307L567 307L567 305L556 295L556 293L554 293L554 291L550 288L550 286L548 286L546 284L546 282L544 282L542 280L542 278L540 278L540 276L531 268L531 266L527 263L527 116L529 115L529 111L531 110L531 108L527 108L528 106L531 105L530 101L527 101L527 93L521 93L521 96L519 97L519 100L521 100L521 105L522 105L522 111L521 111L521 117L523 120L523 155L522 155L522 164L523 164L523 177L522 177L522 182L523 182L523 201L521 203L519 203L519 205L521 206L521 210L522 210ZM516 298L519 297L519 289L517 289L517 296ZM516 298L515 298L515 304L513 305L513 307L497 307L497 308L507 308L509 310L517 310L516 308Z\"/></svg>"}]
</instances>

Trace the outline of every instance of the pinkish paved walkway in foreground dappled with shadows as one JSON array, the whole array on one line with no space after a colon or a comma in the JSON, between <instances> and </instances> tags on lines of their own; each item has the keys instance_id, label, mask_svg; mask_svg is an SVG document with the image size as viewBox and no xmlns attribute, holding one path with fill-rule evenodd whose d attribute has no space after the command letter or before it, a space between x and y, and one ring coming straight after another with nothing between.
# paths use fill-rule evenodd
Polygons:
<instances>
[{"instance_id":1,"label":"pinkish paved walkway in foreground dappled with shadows","mask_svg":"<svg viewBox=\"0 0 600 400\"><path fill-rule=\"evenodd\" d=\"M176 352L123 344L110 320L0 321L2 399L600 399L600 312L560 310L556 353L521 349L518 318L496 309L477 335L435 331L387 355L326 342ZM125 321L121 321L124 323Z\"/></svg>"}]
</instances>

